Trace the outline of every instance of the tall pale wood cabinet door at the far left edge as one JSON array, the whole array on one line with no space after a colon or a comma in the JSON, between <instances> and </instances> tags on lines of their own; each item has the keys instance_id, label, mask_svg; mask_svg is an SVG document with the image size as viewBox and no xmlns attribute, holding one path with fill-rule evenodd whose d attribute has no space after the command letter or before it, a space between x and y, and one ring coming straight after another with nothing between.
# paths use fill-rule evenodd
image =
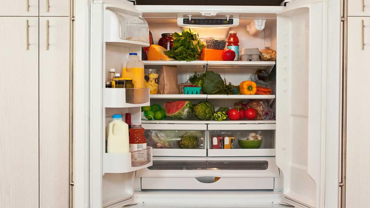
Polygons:
<instances>
[{"instance_id":1,"label":"tall pale wood cabinet door at the far left edge","mask_svg":"<svg viewBox=\"0 0 370 208\"><path fill-rule=\"evenodd\" d=\"M0 28L0 207L36 208L38 17L0 17Z\"/></svg>"}]
</instances>

